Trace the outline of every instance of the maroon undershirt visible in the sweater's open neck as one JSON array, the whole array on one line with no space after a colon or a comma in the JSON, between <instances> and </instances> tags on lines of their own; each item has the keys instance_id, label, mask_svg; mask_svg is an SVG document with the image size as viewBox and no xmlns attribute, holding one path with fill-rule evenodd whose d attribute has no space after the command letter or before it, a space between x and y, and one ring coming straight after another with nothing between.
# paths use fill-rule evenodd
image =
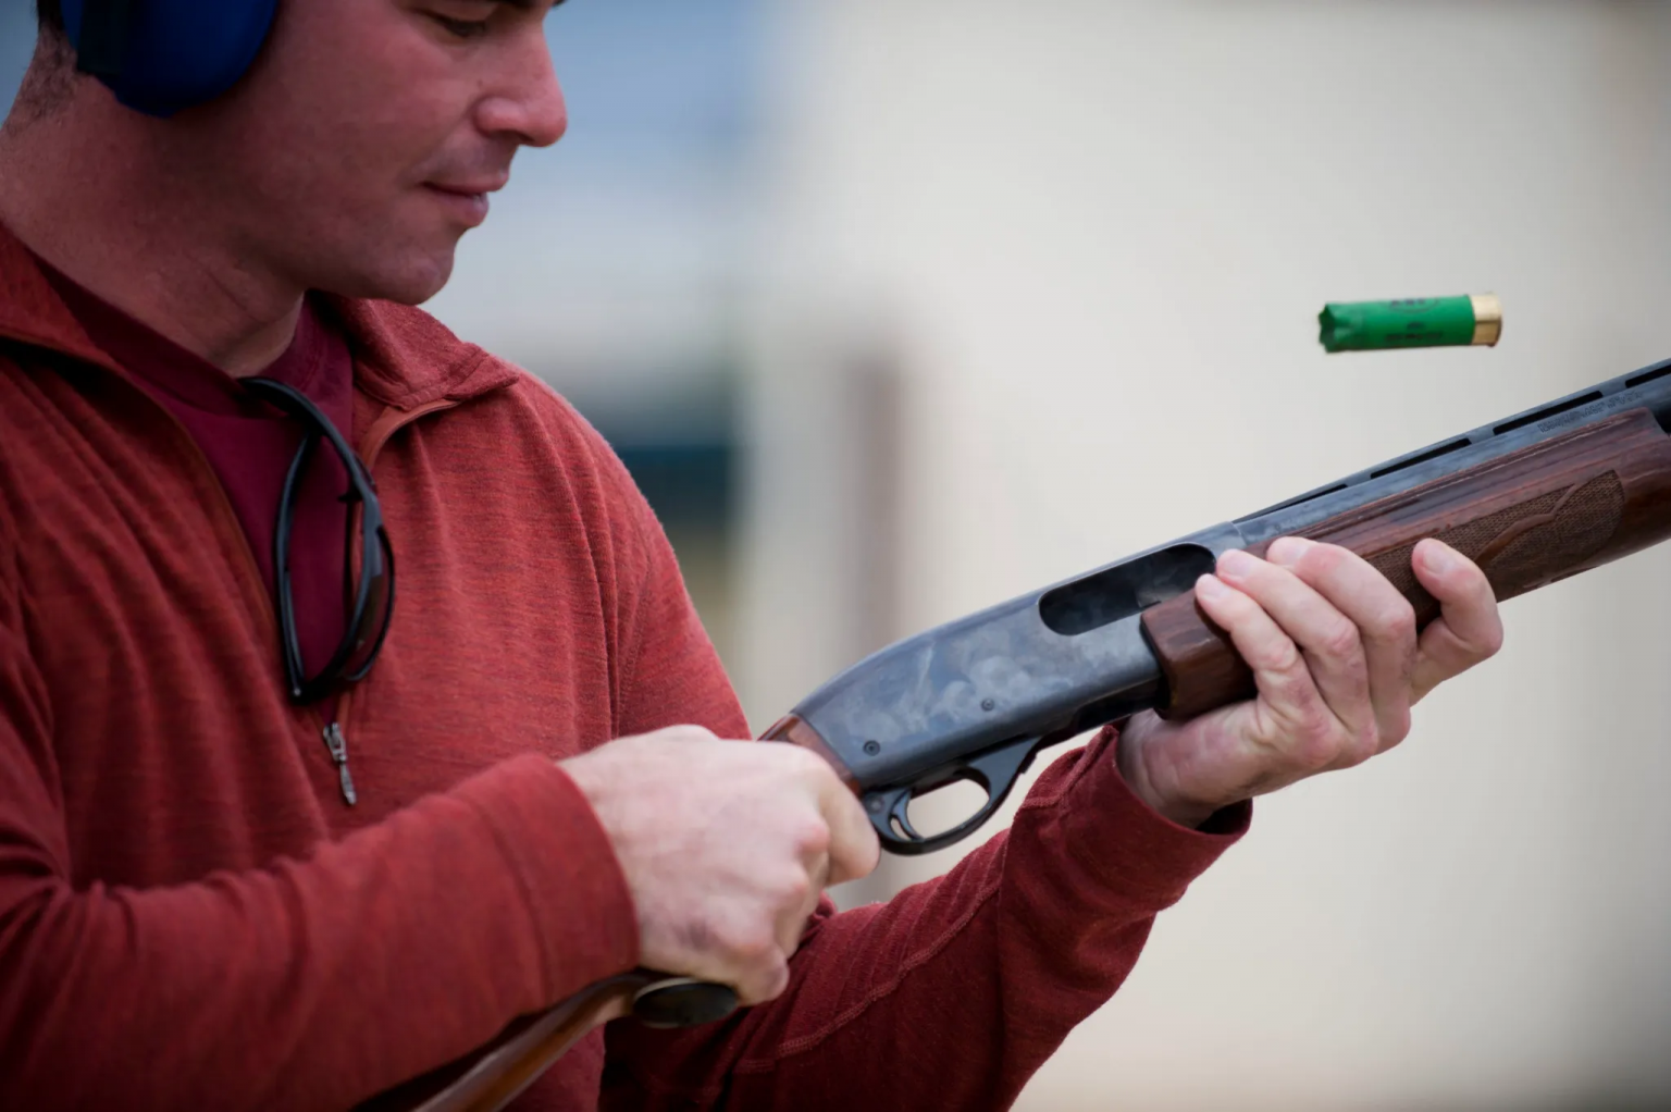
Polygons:
<instances>
[{"instance_id":1,"label":"maroon undershirt visible in the sweater's open neck","mask_svg":"<svg viewBox=\"0 0 1671 1112\"><path fill-rule=\"evenodd\" d=\"M202 448L244 527L251 553L267 585L267 597L274 599L272 533L284 475L302 440L302 421L256 400L221 368L160 336L45 263L42 269L92 341L167 406ZM353 443L354 361L348 341L311 303L302 304L289 349L262 376L307 395ZM344 490L348 472L336 451L321 441L302 473L291 530L296 629L309 672L319 671L331 659L346 622L346 520L339 502ZM279 652L276 642L272 650ZM324 699L319 709L329 722L336 716L336 696Z\"/></svg>"}]
</instances>

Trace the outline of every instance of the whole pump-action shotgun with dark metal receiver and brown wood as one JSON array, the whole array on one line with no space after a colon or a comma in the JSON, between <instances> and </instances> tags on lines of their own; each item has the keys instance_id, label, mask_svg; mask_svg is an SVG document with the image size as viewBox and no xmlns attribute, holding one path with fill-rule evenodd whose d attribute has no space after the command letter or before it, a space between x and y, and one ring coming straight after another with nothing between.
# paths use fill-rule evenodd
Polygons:
<instances>
[{"instance_id":1,"label":"whole pump-action shotgun with dark metal receiver and brown wood","mask_svg":"<svg viewBox=\"0 0 1671 1112\"><path fill-rule=\"evenodd\" d=\"M949 846L1044 746L1145 709L1190 717L1253 696L1252 672L1195 605L1195 579L1220 553L1258 555L1283 535L1342 545L1425 625L1439 604L1410 570L1425 537L1479 564L1499 599L1671 537L1668 428L1671 360L901 640L807 696L765 739L827 759L892 853ZM911 801L954 781L981 786L984 804L951 829L917 831ZM620 1002L673 1027L727 1015L735 995L637 970L518 1020L374 1107L500 1109Z\"/></svg>"}]
</instances>

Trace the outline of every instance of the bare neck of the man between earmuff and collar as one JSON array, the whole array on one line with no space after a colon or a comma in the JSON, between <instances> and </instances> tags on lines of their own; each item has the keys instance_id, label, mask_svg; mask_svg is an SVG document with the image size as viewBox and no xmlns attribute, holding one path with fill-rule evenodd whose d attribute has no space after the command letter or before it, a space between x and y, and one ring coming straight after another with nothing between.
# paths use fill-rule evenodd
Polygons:
<instances>
[{"instance_id":1,"label":"bare neck of the man between earmuff and collar","mask_svg":"<svg viewBox=\"0 0 1671 1112\"><path fill-rule=\"evenodd\" d=\"M0 127L0 222L62 274L227 375L257 375L296 334L302 288L241 258L212 199L79 95Z\"/></svg>"}]
</instances>

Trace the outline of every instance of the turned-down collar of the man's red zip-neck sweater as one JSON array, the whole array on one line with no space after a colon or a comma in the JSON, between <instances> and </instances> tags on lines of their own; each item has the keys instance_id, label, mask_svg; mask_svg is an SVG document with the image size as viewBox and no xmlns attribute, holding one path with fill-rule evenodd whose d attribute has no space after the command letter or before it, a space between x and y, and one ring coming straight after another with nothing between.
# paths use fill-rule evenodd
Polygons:
<instances>
[{"instance_id":1,"label":"turned-down collar of the man's red zip-neck sweater","mask_svg":"<svg viewBox=\"0 0 1671 1112\"><path fill-rule=\"evenodd\" d=\"M508 363L465 343L428 313L393 301L338 298L324 306L354 351L354 381L396 410L465 401L516 380ZM0 338L122 375L47 281L35 256L0 224Z\"/></svg>"}]
</instances>

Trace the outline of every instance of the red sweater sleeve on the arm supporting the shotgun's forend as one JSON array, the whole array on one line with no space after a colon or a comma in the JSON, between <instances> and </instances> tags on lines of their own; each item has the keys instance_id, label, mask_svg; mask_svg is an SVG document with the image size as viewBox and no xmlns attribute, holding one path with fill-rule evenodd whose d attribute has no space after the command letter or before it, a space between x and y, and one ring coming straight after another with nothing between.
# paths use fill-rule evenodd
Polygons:
<instances>
[{"instance_id":1,"label":"red sweater sleeve on the arm supporting the shotgun's forend","mask_svg":"<svg viewBox=\"0 0 1671 1112\"><path fill-rule=\"evenodd\" d=\"M740 711L647 525L627 721ZM690 1032L610 1023L603 1109L969 1109L1011 1104L1073 1027L1131 972L1155 915L1247 828L1230 808L1200 831L1140 801L1118 734L1056 761L1011 829L939 880L834 915L825 900L769 1005Z\"/></svg>"}]
</instances>

